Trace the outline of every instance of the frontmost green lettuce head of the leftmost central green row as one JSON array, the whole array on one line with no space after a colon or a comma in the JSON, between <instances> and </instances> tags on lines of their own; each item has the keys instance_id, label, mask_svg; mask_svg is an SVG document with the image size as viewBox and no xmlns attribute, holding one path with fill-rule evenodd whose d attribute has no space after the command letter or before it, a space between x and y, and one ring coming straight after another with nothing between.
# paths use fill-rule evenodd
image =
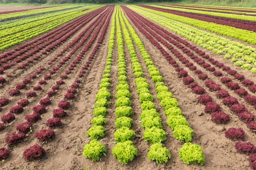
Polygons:
<instances>
[{"instance_id":1,"label":"frontmost green lettuce head of the leftmost central green row","mask_svg":"<svg viewBox=\"0 0 256 170\"><path fill-rule=\"evenodd\" d=\"M84 145L84 157L93 159L93 162L99 161L102 153L107 152L107 148L96 139Z\"/></svg>"}]
</instances>

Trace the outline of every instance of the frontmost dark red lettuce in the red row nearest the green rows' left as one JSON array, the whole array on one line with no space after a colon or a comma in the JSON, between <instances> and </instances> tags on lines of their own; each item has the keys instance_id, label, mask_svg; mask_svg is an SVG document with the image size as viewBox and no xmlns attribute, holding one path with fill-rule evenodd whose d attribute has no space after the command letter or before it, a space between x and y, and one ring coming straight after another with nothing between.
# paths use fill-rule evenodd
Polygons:
<instances>
[{"instance_id":1,"label":"frontmost dark red lettuce in the red row nearest the green rows' left","mask_svg":"<svg viewBox=\"0 0 256 170\"><path fill-rule=\"evenodd\" d=\"M31 161L32 159L39 158L44 153L45 153L44 148L35 144L29 147L28 149L24 150L23 157L27 161Z\"/></svg>"}]
</instances>

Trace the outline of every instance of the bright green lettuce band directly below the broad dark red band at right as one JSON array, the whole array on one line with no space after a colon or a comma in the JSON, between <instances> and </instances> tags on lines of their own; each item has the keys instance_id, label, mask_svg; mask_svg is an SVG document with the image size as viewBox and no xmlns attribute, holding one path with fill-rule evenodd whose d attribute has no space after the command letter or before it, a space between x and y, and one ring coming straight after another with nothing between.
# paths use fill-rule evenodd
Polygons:
<instances>
[{"instance_id":1,"label":"bright green lettuce band directly below the broad dark red band at right","mask_svg":"<svg viewBox=\"0 0 256 170\"><path fill-rule=\"evenodd\" d=\"M254 37L256 36L256 32L247 31L239 28L234 28L231 26L224 26L217 23L209 23L207 21L197 20L193 18L178 16L175 14L171 14L169 11L166 11L164 9L158 9L155 7L149 7L149 6L142 6L140 5L139 8L142 8L146 11L150 11L154 14L161 15L167 18L170 18L172 20L177 20L179 22L187 23L192 26L196 26L198 28L203 28L208 31L212 31L221 35L226 35L230 38L236 38L238 40L248 42L251 44L256 44L256 40Z\"/></svg>"}]
</instances>

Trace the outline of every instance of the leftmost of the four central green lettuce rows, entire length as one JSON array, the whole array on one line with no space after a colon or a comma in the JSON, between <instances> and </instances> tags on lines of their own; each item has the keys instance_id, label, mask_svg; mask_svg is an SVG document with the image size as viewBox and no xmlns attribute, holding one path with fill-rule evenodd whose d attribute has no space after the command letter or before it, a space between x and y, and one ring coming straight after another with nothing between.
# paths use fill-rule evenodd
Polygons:
<instances>
[{"instance_id":1,"label":"leftmost of the four central green lettuce rows, entire length","mask_svg":"<svg viewBox=\"0 0 256 170\"><path fill-rule=\"evenodd\" d=\"M116 15L116 10L113 15ZM105 145L101 144L100 141L98 141L98 138L103 138L105 136L105 128L103 127L103 125L107 123L107 119L105 117L108 113L107 107L110 105L108 100L111 97L111 93L108 91L108 89L111 85L110 73L114 42L115 17L113 17L111 24L106 66L103 71L103 78L101 79L101 84L99 85L99 91L96 94L96 102L93 105L93 116L95 116L95 118L91 120L93 126L86 133L86 136L90 137L91 141L89 144L85 144L83 152L84 157L92 159L93 162L101 160L102 154L105 155L105 153L107 152L107 148L105 147Z\"/></svg>"}]
</instances>

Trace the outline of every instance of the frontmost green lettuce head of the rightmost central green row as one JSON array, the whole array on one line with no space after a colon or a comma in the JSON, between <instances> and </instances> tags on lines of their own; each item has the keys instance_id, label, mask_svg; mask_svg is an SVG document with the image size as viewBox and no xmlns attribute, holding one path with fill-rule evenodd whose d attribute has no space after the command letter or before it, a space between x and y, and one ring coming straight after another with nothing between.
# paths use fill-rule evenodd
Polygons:
<instances>
[{"instance_id":1,"label":"frontmost green lettuce head of the rightmost central green row","mask_svg":"<svg viewBox=\"0 0 256 170\"><path fill-rule=\"evenodd\" d=\"M192 144L190 142L183 144L180 148L179 157L185 164L198 164L203 165L205 158L203 149L198 144Z\"/></svg>"}]
</instances>

